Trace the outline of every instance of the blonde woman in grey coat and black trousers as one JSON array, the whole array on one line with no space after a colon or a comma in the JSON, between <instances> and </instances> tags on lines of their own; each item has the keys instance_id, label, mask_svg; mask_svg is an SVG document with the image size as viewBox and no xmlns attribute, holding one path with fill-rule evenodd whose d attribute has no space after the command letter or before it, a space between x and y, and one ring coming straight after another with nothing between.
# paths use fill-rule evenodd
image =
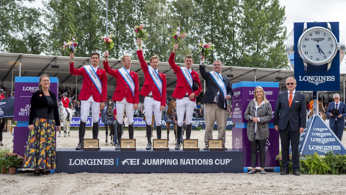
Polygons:
<instances>
[{"instance_id":1,"label":"blonde woman in grey coat and black trousers","mask_svg":"<svg viewBox=\"0 0 346 195\"><path fill-rule=\"evenodd\" d=\"M248 105L244 113L247 122L247 138L251 147L251 166L248 174L256 173L257 146L260 150L261 173L265 174L265 143L269 137L268 122L272 119L272 106L265 98L262 87L255 88L254 100Z\"/></svg>"}]
</instances>

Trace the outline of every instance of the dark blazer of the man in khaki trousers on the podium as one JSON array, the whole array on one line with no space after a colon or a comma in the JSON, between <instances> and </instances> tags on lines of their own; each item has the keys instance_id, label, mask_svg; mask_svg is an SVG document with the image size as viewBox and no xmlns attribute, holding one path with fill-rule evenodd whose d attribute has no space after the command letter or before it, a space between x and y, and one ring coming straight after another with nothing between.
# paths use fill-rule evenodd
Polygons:
<instances>
[{"instance_id":1,"label":"dark blazer of the man in khaki trousers on the podium","mask_svg":"<svg viewBox=\"0 0 346 195\"><path fill-rule=\"evenodd\" d=\"M218 106L219 108L222 108L224 110L227 110L227 100L225 100L222 97L222 92L219 86L216 84L215 80L211 78L211 75L206 71L206 68L204 66L199 65L199 72L201 73L202 78L206 81L207 89L206 93L204 93L202 102L212 104L214 102L215 96L217 95L217 92L220 92L219 94L219 100L218 100ZM233 96L233 90L231 83L229 82L229 78L222 75L222 80L224 80L226 88L227 88L227 94L230 95L231 98ZM225 103L225 104L224 104ZM226 105L226 107L225 107Z\"/></svg>"}]
</instances>

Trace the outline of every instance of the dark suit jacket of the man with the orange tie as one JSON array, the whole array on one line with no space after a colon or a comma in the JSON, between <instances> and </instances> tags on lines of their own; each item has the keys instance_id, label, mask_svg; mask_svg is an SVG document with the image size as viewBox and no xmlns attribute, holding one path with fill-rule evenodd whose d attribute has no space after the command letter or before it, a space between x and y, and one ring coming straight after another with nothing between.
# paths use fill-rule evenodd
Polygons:
<instances>
[{"instance_id":1,"label":"dark suit jacket of the man with the orange tie","mask_svg":"<svg viewBox=\"0 0 346 195\"><path fill-rule=\"evenodd\" d=\"M279 126L279 130L284 130L290 121L291 129L299 131L299 128L306 126L306 103L305 95L295 91L291 107L288 104L288 91L277 95L274 125Z\"/></svg>"}]
</instances>

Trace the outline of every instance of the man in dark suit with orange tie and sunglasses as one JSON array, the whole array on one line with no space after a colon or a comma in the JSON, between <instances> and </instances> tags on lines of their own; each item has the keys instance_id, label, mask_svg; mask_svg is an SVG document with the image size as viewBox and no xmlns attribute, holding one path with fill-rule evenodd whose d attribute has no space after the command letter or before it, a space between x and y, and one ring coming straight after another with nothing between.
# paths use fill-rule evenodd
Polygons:
<instances>
[{"instance_id":1,"label":"man in dark suit with orange tie and sunglasses","mask_svg":"<svg viewBox=\"0 0 346 195\"><path fill-rule=\"evenodd\" d=\"M281 139L282 169L281 175L289 174L288 163L290 160L290 141L292 148L292 169L294 175L299 173L299 134L303 133L306 126L305 95L295 91L297 82L294 77L286 79L288 91L277 96L274 127L279 131Z\"/></svg>"}]
</instances>

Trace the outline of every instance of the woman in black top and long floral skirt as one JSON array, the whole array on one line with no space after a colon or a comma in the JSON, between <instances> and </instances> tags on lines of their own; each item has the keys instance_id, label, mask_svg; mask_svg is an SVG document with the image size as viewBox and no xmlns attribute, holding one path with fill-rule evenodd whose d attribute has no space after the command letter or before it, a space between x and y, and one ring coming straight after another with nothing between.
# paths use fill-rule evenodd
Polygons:
<instances>
[{"instance_id":1,"label":"woman in black top and long floral skirt","mask_svg":"<svg viewBox=\"0 0 346 195\"><path fill-rule=\"evenodd\" d=\"M39 78L38 91L31 96L29 138L24 155L24 168L35 169L35 175L55 169L55 130L60 131L56 96L49 91L49 76Z\"/></svg>"}]
</instances>

